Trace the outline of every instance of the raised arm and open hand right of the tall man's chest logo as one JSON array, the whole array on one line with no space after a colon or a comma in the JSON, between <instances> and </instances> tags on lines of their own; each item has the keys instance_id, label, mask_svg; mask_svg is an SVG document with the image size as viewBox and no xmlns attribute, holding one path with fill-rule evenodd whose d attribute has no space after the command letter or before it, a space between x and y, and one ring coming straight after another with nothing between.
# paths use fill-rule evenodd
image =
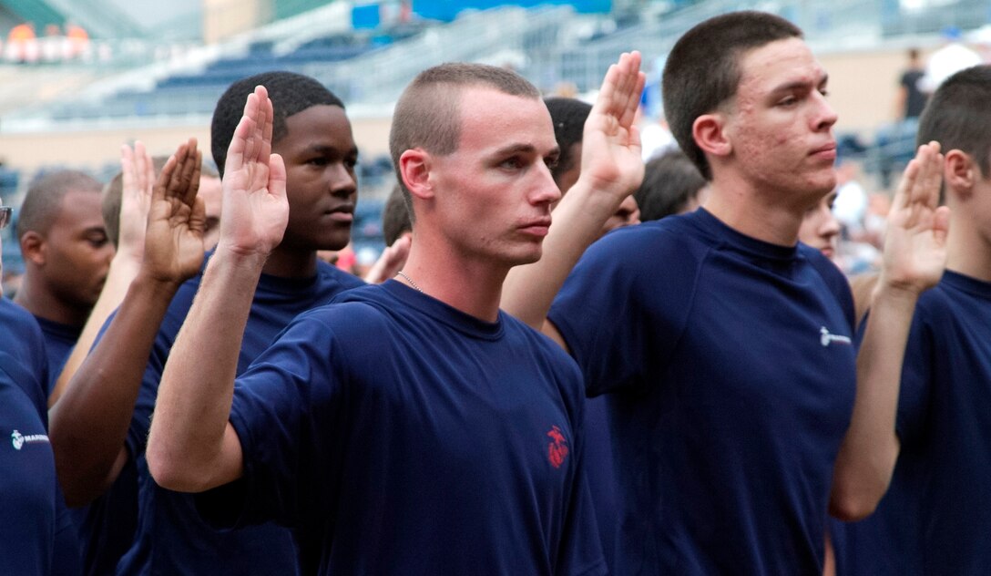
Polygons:
<instances>
[{"instance_id":1,"label":"raised arm and open hand right of the tall man's chest logo","mask_svg":"<svg viewBox=\"0 0 991 576\"><path fill-rule=\"evenodd\" d=\"M888 490L900 449L895 417L902 361L919 295L946 266L949 208L938 206L939 145L920 147L888 215L884 264L857 354L853 416L836 458L830 513L864 518Z\"/></svg>"}]
</instances>

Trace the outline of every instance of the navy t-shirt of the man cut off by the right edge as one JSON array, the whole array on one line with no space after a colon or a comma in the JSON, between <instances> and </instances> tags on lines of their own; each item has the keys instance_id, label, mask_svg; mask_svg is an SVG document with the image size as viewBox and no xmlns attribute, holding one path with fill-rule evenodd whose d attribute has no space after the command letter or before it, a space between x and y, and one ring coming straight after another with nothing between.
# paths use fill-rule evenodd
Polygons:
<instances>
[{"instance_id":1,"label":"navy t-shirt of the man cut off by the right edge","mask_svg":"<svg viewBox=\"0 0 991 576\"><path fill-rule=\"evenodd\" d=\"M877 511L841 528L837 574L991 574L989 329L991 284L946 271L919 299L898 400L901 453Z\"/></svg>"}]
</instances>

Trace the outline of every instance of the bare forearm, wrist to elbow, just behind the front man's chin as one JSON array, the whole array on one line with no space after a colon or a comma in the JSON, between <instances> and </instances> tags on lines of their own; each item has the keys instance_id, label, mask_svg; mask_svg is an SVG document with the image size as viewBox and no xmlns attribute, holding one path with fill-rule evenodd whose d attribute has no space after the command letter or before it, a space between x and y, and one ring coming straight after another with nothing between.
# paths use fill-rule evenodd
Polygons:
<instances>
[{"instance_id":1,"label":"bare forearm, wrist to elbow, just behind the front man's chin","mask_svg":"<svg viewBox=\"0 0 991 576\"><path fill-rule=\"evenodd\" d=\"M554 209L539 261L509 271L499 306L541 330L558 290L585 250L602 233L618 200L579 180Z\"/></svg>"}]
</instances>

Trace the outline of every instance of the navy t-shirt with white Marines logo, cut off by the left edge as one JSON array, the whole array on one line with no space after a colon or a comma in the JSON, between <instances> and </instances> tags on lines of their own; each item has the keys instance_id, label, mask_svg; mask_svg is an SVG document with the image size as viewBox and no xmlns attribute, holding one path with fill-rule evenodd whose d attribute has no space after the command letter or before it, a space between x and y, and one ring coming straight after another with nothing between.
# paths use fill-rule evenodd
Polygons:
<instances>
[{"instance_id":1,"label":"navy t-shirt with white Marines logo, cut off by the left edge","mask_svg":"<svg viewBox=\"0 0 991 576\"><path fill-rule=\"evenodd\" d=\"M0 296L0 574L48 575L55 542L55 455L48 360L34 317Z\"/></svg>"}]
</instances>

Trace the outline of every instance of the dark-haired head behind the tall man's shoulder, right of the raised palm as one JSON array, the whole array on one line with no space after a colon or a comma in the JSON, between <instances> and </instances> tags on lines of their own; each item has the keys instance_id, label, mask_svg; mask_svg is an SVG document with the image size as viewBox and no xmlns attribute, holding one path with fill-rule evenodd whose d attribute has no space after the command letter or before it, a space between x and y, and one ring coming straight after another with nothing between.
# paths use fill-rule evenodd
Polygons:
<instances>
[{"instance_id":1,"label":"dark-haired head behind the tall man's shoulder, right of the raised palm","mask_svg":"<svg viewBox=\"0 0 991 576\"><path fill-rule=\"evenodd\" d=\"M640 220L691 212L706 200L706 178L685 153L672 150L647 162L643 183L633 192Z\"/></svg>"}]
</instances>

